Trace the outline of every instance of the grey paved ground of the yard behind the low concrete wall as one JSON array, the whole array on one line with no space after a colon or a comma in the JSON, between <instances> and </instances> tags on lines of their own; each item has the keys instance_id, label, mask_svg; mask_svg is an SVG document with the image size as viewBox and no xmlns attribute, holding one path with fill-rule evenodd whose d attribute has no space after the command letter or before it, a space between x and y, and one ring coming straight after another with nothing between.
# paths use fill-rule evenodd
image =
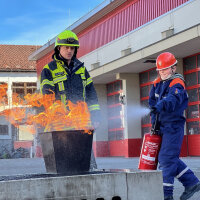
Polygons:
<instances>
[{"instance_id":1,"label":"grey paved ground of the yard behind the low concrete wall","mask_svg":"<svg viewBox=\"0 0 200 200\"><path fill-rule=\"evenodd\" d=\"M182 159L200 179L200 157ZM99 169L134 169L137 170L138 158L97 158ZM45 173L45 164L42 158L3 159L0 160L0 176ZM184 188L175 181L174 198L179 199ZM200 200L200 192L190 200Z\"/></svg>"}]
</instances>

